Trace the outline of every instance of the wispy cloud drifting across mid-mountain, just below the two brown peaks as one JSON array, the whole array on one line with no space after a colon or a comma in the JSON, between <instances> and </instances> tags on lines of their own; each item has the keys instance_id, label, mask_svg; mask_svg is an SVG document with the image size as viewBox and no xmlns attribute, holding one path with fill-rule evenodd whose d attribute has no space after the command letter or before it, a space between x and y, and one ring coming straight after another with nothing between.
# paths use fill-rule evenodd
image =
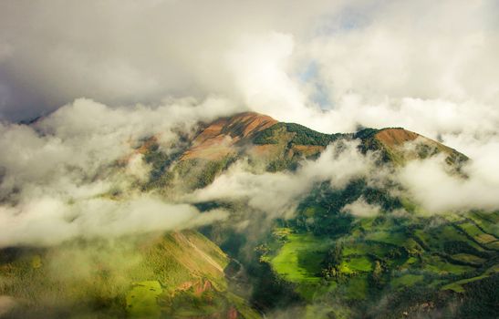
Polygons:
<instances>
[{"instance_id":1,"label":"wispy cloud drifting across mid-mountain, just below the two brown peaks","mask_svg":"<svg viewBox=\"0 0 499 319\"><path fill-rule=\"evenodd\" d=\"M349 180L369 176L374 155L361 154L358 146L358 140L331 144L317 160L305 161L296 172L255 173L239 161L211 185L187 197L191 201L244 200L270 216L291 216L317 182L329 181L341 189Z\"/></svg>"}]
</instances>

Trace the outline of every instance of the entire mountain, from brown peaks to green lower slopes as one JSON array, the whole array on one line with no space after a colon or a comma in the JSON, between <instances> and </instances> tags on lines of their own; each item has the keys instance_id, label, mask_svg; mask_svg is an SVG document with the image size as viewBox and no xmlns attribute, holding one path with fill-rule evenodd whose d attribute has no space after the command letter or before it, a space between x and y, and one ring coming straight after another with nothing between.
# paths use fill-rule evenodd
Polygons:
<instances>
[{"instance_id":1,"label":"entire mountain, from brown peaks to green lower slopes","mask_svg":"<svg viewBox=\"0 0 499 319\"><path fill-rule=\"evenodd\" d=\"M335 184L327 165L346 150L372 167ZM151 172L134 191L187 198L200 211L228 211L228 219L112 243L6 249L0 295L26 303L12 317L499 315L499 212L430 213L395 178L414 160L441 156L447 173L465 180L461 169L469 159L438 141L400 128L324 134L246 112L199 123L194 136L182 135L168 151L152 136L135 152ZM323 157L330 162L309 178L307 168ZM300 192L285 197L284 212L261 208L277 196L254 205L262 192L249 189L247 196L196 197L241 167L235 180L279 177L265 190L295 182ZM335 174L342 170L348 165ZM244 187L263 185L252 180ZM120 201L127 193L104 196ZM65 267L79 275L65 277Z\"/></svg>"}]
</instances>

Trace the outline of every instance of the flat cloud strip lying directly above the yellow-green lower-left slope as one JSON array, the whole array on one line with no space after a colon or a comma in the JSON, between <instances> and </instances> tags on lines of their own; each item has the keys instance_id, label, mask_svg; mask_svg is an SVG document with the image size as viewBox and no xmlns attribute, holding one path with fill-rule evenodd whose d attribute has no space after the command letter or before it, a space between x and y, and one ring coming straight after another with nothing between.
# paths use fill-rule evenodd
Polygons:
<instances>
[{"instance_id":1,"label":"flat cloud strip lying directly above the yellow-green lower-left slope","mask_svg":"<svg viewBox=\"0 0 499 319\"><path fill-rule=\"evenodd\" d=\"M40 198L16 207L0 206L0 247L182 230L226 217L224 211L200 214L190 205L170 204L148 195L125 201L92 198L74 203Z\"/></svg>"}]
</instances>

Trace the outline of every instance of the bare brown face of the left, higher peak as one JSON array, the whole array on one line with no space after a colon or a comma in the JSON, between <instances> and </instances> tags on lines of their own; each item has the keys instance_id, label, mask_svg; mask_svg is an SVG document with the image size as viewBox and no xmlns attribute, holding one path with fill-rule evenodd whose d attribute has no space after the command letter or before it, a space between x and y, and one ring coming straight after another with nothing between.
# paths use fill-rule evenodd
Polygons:
<instances>
[{"instance_id":1,"label":"bare brown face of the left, higher peak","mask_svg":"<svg viewBox=\"0 0 499 319\"><path fill-rule=\"evenodd\" d=\"M277 121L255 112L245 112L220 118L210 124L192 141L181 160L221 160L234 152L234 145L251 140L255 134L268 129Z\"/></svg>"}]
</instances>

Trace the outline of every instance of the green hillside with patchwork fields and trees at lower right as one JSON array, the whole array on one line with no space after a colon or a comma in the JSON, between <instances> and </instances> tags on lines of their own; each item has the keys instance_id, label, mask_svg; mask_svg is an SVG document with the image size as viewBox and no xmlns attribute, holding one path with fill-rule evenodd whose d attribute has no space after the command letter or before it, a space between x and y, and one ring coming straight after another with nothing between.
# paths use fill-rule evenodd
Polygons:
<instances>
[{"instance_id":1,"label":"green hillside with patchwork fields and trees at lower right","mask_svg":"<svg viewBox=\"0 0 499 319\"><path fill-rule=\"evenodd\" d=\"M331 213L329 218L340 218L335 215ZM494 214L497 216L499 213ZM390 296L390 307L371 315L398 318L403 313L431 314L459 298L464 300L459 310L462 314L469 314L464 304L487 298L491 305L497 301L494 293L481 296L471 285L491 284L496 291L497 238L484 244L481 238L493 235L467 232L463 225L474 223L464 216L398 218L381 214L352 219L348 230L337 232L314 232L314 225L298 224L291 220L275 228L271 240L265 242L268 250L261 261L293 283L309 304L347 307L348 313L355 305L354 313L362 316L372 312L372 304ZM406 299L407 295L411 299ZM437 301L442 304L435 304ZM418 308L428 303L431 307ZM496 311L481 308L480 314L494 317Z\"/></svg>"}]
</instances>

